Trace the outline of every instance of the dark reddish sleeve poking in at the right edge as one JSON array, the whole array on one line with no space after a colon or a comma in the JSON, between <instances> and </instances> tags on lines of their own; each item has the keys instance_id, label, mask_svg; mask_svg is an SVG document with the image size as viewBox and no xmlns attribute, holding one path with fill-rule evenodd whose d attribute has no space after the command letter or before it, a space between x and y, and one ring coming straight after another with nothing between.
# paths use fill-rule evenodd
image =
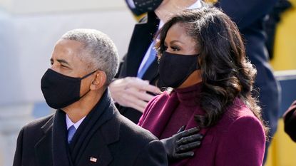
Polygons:
<instances>
[{"instance_id":1,"label":"dark reddish sleeve poking in at the right edge","mask_svg":"<svg viewBox=\"0 0 296 166\"><path fill-rule=\"evenodd\" d=\"M296 100L292 103L290 108L287 109L283 118L285 123L285 133L296 142Z\"/></svg>"}]
</instances>

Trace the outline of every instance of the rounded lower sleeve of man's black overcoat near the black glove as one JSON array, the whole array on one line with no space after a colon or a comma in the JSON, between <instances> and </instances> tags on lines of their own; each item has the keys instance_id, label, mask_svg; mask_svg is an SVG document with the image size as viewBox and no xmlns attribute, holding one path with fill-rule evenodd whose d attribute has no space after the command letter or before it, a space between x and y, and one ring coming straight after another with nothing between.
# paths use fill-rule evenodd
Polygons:
<instances>
[{"instance_id":1,"label":"rounded lower sleeve of man's black overcoat near the black glove","mask_svg":"<svg viewBox=\"0 0 296 166\"><path fill-rule=\"evenodd\" d=\"M168 159L165 147L159 140L153 140L143 148L133 166L166 166Z\"/></svg>"}]
</instances>

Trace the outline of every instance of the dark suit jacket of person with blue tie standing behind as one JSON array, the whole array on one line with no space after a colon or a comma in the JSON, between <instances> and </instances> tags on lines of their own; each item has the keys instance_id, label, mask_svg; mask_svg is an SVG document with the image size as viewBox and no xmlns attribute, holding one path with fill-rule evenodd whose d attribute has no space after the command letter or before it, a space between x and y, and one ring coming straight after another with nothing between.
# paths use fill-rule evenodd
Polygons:
<instances>
[{"instance_id":1,"label":"dark suit jacket of person with blue tie standing behind","mask_svg":"<svg viewBox=\"0 0 296 166\"><path fill-rule=\"evenodd\" d=\"M155 33L158 30L159 22L160 20L154 12L150 12L139 24L136 24L128 46L128 53L126 53L126 56L123 57L123 61L121 62L119 78L137 76L138 68L153 41ZM150 84L161 87L161 83L158 83L158 63L156 59L149 66L146 73L144 73L143 80L148 80ZM122 115L126 116L126 118L132 120L134 123L138 123L142 113L133 108L126 108L120 105L116 106L118 106L118 110Z\"/></svg>"}]
</instances>

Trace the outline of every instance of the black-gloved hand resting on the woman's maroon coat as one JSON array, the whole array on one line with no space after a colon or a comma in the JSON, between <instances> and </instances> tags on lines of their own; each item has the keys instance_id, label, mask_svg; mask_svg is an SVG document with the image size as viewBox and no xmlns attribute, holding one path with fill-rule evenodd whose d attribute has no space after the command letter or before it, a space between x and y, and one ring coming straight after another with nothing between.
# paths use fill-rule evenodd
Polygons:
<instances>
[{"instance_id":1,"label":"black-gloved hand resting on the woman's maroon coat","mask_svg":"<svg viewBox=\"0 0 296 166\"><path fill-rule=\"evenodd\" d=\"M172 137L160 140L163 142L169 162L193 157L194 152L191 150L200 146L203 139L203 135L198 133L200 129L190 128L185 131L184 129L185 125Z\"/></svg>"}]
</instances>

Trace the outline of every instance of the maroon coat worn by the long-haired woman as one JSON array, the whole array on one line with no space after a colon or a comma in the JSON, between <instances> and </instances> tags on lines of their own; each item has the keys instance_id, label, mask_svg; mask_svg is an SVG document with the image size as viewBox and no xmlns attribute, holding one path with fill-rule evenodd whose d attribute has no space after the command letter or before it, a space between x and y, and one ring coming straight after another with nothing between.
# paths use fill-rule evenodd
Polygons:
<instances>
[{"instance_id":1,"label":"maroon coat worn by the long-haired woman","mask_svg":"<svg viewBox=\"0 0 296 166\"><path fill-rule=\"evenodd\" d=\"M186 129L198 126L193 115L203 115L195 96L200 84L189 88L176 89L172 93L164 92L148 103L138 125L150 130L156 137L163 133L175 133L172 124L186 125ZM195 103L195 105L193 105ZM182 113L192 111L190 118L182 118ZM174 118L178 114L179 118ZM180 122L184 120L184 122ZM170 126L168 128L168 126ZM172 130L172 131L170 131ZM265 133L260 120L236 98L223 117L211 128L200 130L205 136L201 146L195 150L195 156L172 165L197 166L259 166L262 165L265 152Z\"/></svg>"}]
</instances>

